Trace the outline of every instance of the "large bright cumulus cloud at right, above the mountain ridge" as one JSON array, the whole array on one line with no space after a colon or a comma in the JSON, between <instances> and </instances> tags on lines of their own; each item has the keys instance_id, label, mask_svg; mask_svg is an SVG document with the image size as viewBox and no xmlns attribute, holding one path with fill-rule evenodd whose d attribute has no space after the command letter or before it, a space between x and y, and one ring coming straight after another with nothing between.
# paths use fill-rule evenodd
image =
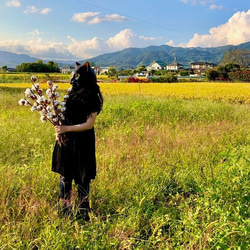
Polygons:
<instances>
[{"instance_id":1,"label":"large bright cumulus cloud at right, above the mountain ridge","mask_svg":"<svg viewBox=\"0 0 250 250\"><path fill-rule=\"evenodd\" d=\"M227 23L211 28L209 34L199 35L188 42L188 47L237 45L250 41L250 10L236 12Z\"/></svg>"}]
</instances>

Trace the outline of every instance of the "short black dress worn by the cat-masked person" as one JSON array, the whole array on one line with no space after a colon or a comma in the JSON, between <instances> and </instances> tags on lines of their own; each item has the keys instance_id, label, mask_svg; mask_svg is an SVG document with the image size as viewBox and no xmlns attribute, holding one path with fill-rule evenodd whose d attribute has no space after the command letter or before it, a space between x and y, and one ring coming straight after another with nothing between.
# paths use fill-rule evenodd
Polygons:
<instances>
[{"instance_id":1,"label":"short black dress worn by the cat-masked person","mask_svg":"<svg viewBox=\"0 0 250 250\"><path fill-rule=\"evenodd\" d=\"M87 121L91 113L100 111L98 92L84 88L71 92L66 103L65 125L76 125ZM96 176L95 131L66 133L67 142L56 141L52 155L52 171L76 181L94 179Z\"/></svg>"}]
</instances>

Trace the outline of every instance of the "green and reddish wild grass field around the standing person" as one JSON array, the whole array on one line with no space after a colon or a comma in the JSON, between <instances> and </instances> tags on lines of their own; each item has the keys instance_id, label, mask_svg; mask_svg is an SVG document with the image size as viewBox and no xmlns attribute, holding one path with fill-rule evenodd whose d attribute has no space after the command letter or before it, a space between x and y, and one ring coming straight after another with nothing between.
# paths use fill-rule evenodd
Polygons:
<instances>
[{"instance_id":1,"label":"green and reddish wild grass field around the standing person","mask_svg":"<svg viewBox=\"0 0 250 250\"><path fill-rule=\"evenodd\" d=\"M0 88L0 249L247 249L249 104L116 86L101 85L86 224L58 212L52 125Z\"/></svg>"}]
</instances>

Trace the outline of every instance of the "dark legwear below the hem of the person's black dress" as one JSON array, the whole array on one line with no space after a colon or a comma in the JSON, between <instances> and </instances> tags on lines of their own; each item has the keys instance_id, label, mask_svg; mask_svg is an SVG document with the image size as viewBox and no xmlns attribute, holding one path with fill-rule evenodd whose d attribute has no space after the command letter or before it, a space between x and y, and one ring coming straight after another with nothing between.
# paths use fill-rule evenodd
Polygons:
<instances>
[{"instance_id":1,"label":"dark legwear below the hem of the person's black dress","mask_svg":"<svg viewBox=\"0 0 250 250\"><path fill-rule=\"evenodd\" d=\"M60 176L60 198L69 200L70 199L70 192L72 190L72 178L66 178L64 176ZM88 196L89 196L89 184L90 180L76 181L75 184L77 185L77 192L80 204L83 206L88 205ZM85 205L84 205L85 204Z\"/></svg>"}]
</instances>

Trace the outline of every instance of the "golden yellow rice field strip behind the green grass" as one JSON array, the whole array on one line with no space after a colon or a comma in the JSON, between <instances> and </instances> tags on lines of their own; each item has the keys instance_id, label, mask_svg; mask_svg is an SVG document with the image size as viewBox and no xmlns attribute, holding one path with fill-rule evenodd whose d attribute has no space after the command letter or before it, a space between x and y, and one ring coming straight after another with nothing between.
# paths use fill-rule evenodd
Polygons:
<instances>
[{"instance_id":1,"label":"golden yellow rice field strip behind the green grass","mask_svg":"<svg viewBox=\"0 0 250 250\"><path fill-rule=\"evenodd\" d=\"M69 83L59 83L66 90ZM250 83L99 83L104 95L142 95L180 99L212 99L237 103L250 103ZM5 83L0 87L28 88L31 83ZM46 89L47 85L41 84ZM43 87L44 86L44 87Z\"/></svg>"}]
</instances>

